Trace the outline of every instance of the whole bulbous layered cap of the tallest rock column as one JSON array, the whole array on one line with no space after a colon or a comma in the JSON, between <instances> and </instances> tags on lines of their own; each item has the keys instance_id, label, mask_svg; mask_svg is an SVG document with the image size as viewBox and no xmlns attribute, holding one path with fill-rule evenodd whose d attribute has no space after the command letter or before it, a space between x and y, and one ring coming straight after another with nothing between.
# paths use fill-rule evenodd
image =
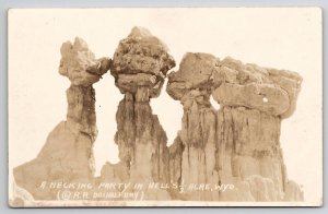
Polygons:
<instances>
[{"instance_id":1,"label":"whole bulbous layered cap of the tallest rock column","mask_svg":"<svg viewBox=\"0 0 328 214\"><path fill-rule=\"evenodd\" d=\"M166 45L148 29L133 27L120 40L110 68L120 92L136 94L139 87L147 87L150 97L159 96L167 71L175 67L167 51Z\"/></svg>"}]
</instances>

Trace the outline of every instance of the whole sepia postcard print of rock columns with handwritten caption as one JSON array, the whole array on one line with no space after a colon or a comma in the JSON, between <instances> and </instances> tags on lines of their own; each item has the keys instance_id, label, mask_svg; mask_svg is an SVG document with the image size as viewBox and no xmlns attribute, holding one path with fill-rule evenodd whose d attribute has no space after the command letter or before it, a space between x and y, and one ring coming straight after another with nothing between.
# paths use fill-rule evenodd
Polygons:
<instances>
[{"instance_id":1,"label":"whole sepia postcard print of rock columns with handwritten caption","mask_svg":"<svg viewBox=\"0 0 328 214\"><path fill-rule=\"evenodd\" d=\"M321 9L10 9L8 111L12 207L321 206Z\"/></svg>"}]
</instances>

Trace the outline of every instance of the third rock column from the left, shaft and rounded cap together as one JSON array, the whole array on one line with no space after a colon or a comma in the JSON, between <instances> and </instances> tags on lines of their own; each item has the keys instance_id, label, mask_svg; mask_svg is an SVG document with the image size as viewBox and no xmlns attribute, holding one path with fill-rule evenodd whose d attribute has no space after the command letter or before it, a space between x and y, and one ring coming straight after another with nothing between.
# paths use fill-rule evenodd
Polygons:
<instances>
[{"instance_id":1,"label":"third rock column from the left, shaft and rounded cap together","mask_svg":"<svg viewBox=\"0 0 328 214\"><path fill-rule=\"evenodd\" d=\"M171 179L189 185L219 183L215 169L216 111L210 104L212 73L219 59L208 54L186 54L177 72L168 75L167 93L184 106L183 127L169 146ZM218 191L186 191L177 198L219 200Z\"/></svg>"}]
</instances>

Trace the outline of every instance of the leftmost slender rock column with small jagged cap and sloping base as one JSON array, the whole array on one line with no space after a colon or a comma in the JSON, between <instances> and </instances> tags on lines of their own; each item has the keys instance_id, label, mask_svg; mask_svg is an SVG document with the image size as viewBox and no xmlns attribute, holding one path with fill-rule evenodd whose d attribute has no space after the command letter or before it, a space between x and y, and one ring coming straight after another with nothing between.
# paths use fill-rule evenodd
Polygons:
<instances>
[{"instance_id":1,"label":"leftmost slender rock column with small jagged cap and sloping base","mask_svg":"<svg viewBox=\"0 0 328 214\"><path fill-rule=\"evenodd\" d=\"M93 182L92 146L97 128L92 84L107 72L110 60L95 59L86 43L79 37L74 44L62 44L60 52L59 73L71 81L67 90L67 120L50 132L35 159L13 171L17 186L37 200L57 199L58 189L49 188L51 182ZM45 188L40 187L45 182Z\"/></svg>"}]
</instances>

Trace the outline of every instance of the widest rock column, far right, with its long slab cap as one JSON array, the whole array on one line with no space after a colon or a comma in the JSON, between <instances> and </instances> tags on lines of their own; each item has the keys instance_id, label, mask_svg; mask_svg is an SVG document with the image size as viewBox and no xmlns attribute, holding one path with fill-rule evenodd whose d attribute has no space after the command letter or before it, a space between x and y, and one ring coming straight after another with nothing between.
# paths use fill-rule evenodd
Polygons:
<instances>
[{"instance_id":1,"label":"widest rock column, far right, with its long slab cap","mask_svg":"<svg viewBox=\"0 0 328 214\"><path fill-rule=\"evenodd\" d=\"M220 182L233 191L220 200L302 200L289 181L280 146L281 120L292 115L302 78L290 71L243 64L232 58L213 73L212 95L218 114L218 169ZM292 186L292 188L290 188Z\"/></svg>"}]
</instances>

